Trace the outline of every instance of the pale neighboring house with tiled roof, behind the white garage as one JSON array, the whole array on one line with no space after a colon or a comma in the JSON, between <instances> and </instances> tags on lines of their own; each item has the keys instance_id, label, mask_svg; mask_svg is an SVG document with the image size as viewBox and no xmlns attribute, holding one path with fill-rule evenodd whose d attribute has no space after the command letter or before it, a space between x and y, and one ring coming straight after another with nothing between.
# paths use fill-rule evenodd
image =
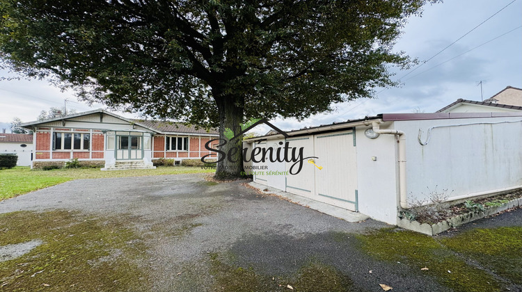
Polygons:
<instances>
[{"instance_id":1,"label":"pale neighboring house with tiled roof, behind the white garage","mask_svg":"<svg viewBox=\"0 0 522 292\"><path fill-rule=\"evenodd\" d=\"M502 113L522 111L522 89L507 86L484 102L457 99L437 113Z\"/></svg>"}]
</instances>

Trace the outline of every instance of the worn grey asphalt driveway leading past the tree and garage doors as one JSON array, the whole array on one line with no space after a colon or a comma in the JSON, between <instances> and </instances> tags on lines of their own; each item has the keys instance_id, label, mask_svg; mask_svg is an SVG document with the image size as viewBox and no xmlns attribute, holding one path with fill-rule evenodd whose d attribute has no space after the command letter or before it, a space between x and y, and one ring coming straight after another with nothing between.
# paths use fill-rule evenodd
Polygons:
<instances>
[{"instance_id":1,"label":"worn grey asphalt driveway leading past the tree and garage doors","mask_svg":"<svg viewBox=\"0 0 522 292\"><path fill-rule=\"evenodd\" d=\"M406 265L367 257L349 235L389 225L349 223L260 195L244 182L216 184L204 175L82 179L0 202L0 213L65 209L129 218L148 246L141 266L152 291L213 291L216 258L270 277L319 261L349 275L356 291L382 291L381 283L400 287L393 291L448 291Z\"/></svg>"}]
</instances>

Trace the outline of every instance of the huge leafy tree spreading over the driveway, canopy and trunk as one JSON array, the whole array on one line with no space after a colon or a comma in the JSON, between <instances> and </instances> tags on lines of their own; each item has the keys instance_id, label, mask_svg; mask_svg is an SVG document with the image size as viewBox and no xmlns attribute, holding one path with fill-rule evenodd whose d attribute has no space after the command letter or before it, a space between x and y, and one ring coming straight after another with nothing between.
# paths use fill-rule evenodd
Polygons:
<instances>
[{"instance_id":1,"label":"huge leafy tree spreading over the driveway, canopy and trunk","mask_svg":"<svg viewBox=\"0 0 522 292\"><path fill-rule=\"evenodd\" d=\"M225 139L251 118L301 119L395 86L388 67L409 59L393 43L427 1L3 0L0 54L83 99ZM217 175L239 174L241 152L232 161Z\"/></svg>"}]
</instances>

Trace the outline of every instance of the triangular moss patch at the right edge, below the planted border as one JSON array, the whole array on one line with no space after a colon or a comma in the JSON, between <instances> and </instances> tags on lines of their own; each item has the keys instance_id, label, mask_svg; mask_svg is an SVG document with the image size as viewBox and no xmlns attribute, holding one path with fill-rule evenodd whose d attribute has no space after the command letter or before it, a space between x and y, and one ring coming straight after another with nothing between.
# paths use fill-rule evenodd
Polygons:
<instances>
[{"instance_id":1,"label":"triangular moss patch at the right edge, below the planted border","mask_svg":"<svg viewBox=\"0 0 522 292\"><path fill-rule=\"evenodd\" d=\"M522 284L522 227L473 229L441 242L500 277Z\"/></svg>"}]
</instances>

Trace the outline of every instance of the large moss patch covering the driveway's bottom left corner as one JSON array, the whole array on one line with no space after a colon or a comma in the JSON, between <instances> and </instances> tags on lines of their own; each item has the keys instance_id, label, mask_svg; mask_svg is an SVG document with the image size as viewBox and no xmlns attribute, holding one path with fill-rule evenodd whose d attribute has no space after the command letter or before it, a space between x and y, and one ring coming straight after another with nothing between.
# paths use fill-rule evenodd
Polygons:
<instances>
[{"instance_id":1,"label":"large moss patch covering the driveway's bottom left corner","mask_svg":"<svg viewBox=\"0 0 522 292\"><path fill-rule=\"evenodd\" d=\"M40 240L30 252L0 262L6 291L147 291L137 266L145 247L125 218L19 211L0 215L0 245Z\"/></svg>"}]
</instances>

